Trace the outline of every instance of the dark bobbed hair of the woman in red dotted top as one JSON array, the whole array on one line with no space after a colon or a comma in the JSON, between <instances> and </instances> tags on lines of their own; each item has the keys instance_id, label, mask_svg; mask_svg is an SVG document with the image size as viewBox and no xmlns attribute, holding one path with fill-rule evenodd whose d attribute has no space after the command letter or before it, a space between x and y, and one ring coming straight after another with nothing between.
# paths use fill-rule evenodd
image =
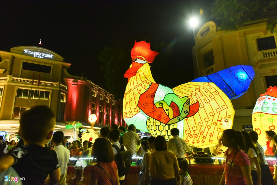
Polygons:
<instances>
[{"instance_id":1,"label":"dark bobbed hair of the woman in red dotted top","mask_svg":"<svg viewBox=\"0 0 277 185\"><path fill-rule=\"evenodd\" d=\"M92 151L92 155L96 157L97 162L110 163L115 158L111 142L106 138L97 138L93 143Z\"/></svg>"}]
</instances>

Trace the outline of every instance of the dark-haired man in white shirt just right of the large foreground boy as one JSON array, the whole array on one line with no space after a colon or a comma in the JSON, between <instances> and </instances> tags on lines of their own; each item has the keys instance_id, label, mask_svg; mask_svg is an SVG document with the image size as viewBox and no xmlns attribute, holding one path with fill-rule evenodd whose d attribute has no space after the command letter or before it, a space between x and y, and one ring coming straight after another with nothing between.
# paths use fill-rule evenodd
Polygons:
<instances>
[{"instance_id":1,"label":"dark-haired man in white shirt just right of the large foreground boy","mask_svg":"<svg viewBox=\"0 0 277 185\"><path fill-rule=\"evenodd\" d=\"M53 134L52 142L55 146L53 150L57 153L57 158L61 170L61 178L57 184L66 185L66 173L70 151L61 144L63 142L63 132L55 132Z\"/></svg>"}]
</instances>

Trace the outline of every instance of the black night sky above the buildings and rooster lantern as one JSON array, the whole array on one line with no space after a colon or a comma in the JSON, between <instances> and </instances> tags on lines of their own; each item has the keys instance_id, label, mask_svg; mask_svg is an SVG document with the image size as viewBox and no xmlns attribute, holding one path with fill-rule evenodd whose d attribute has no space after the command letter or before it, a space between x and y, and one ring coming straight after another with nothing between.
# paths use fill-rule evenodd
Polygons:
<instances>
[{"instance_id":1,"label":"black night sky above the buildings and rooster lantern","mask_svg":"<svg viewBox=\"0 0 277 185\"><path fill-rule=\"evenodd\" d=\"M173 88L194 79L191 49L194 38L188 20L193 14L199 16L201 22L196 29L207 21L216 22L211 18L213 2L2 0L0 50L10 51L17 46L44 47L61 55L64 62L71 63L71 75L83 74L105 88L104 72L100 70L98 60L105 46L131 49L134 40L145 39L151 45L174 41L164 71L159 73L160 76L153 75L157 83ZM200 8L203 9L201 16ZM43 45L38 45L40 39ZM131 64L131 56L126 62ZM159 61L154 62L157 65ZM154 68L153 65L151 70Z\"/></svg>"}]
</instances>

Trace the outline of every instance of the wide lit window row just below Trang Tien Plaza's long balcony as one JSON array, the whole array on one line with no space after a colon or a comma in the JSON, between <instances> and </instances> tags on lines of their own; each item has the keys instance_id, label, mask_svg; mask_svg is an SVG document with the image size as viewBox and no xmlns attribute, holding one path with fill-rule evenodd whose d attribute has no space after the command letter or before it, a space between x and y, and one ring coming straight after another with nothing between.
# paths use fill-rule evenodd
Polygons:
<instances>
[{"instance_id":1,"label":"wide lit window row just below Trang Tien Plaza's long balcony","mask_svg":"<svg viewBox=\"0 0 277 185\"><path fill-rule=\"evenodd\" d=\"M16 92L16 97L49 100L50 91L18 88Z\"/></svg>"}]
</instances>

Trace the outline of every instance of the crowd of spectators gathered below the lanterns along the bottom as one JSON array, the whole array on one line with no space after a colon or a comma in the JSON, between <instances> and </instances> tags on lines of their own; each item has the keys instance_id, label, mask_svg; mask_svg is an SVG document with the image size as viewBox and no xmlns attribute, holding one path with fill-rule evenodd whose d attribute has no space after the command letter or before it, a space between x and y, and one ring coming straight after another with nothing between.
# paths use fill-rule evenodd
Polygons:
<instances>
[{"instance_id":1,"label":"crowd of spectators gathered below the lanterns along the bottom","mask_svg":"<svg viewBox=\"0 0 277 185\"><path fill-rule=\"evenodd\" d=\"M0 184L9 184L4 181L7 175L25 177L17 184L66 184L68 164L75 168L71 180L82 182L84 169L93 157L97 163L91 166L86 182L123 185L126 171L118 163L122 155L142 157L138 165L141 169L139 185L193 184L186 157L196 153L179 137L177 128L171 129L172 138L166 141L164 136L140 139L133 124L127 130L112 124L100 129L94 143L85 140L81 145L79 140L69 143L61 131L54 132L55 123L55 114L48 106L35 106L24 111L20 118L21 144L14 140L5 143L0 136ZM210 147L215 155L220 153L221 147L226 147L222 153L224 172L219 185L277 184L277 167L272 177L265 160L265 155L277 159L277 135L272 130L265 134L268 140L266 151L257 142L257 132L223 131L219 144Z\"/></svg>"}]
</instances>

